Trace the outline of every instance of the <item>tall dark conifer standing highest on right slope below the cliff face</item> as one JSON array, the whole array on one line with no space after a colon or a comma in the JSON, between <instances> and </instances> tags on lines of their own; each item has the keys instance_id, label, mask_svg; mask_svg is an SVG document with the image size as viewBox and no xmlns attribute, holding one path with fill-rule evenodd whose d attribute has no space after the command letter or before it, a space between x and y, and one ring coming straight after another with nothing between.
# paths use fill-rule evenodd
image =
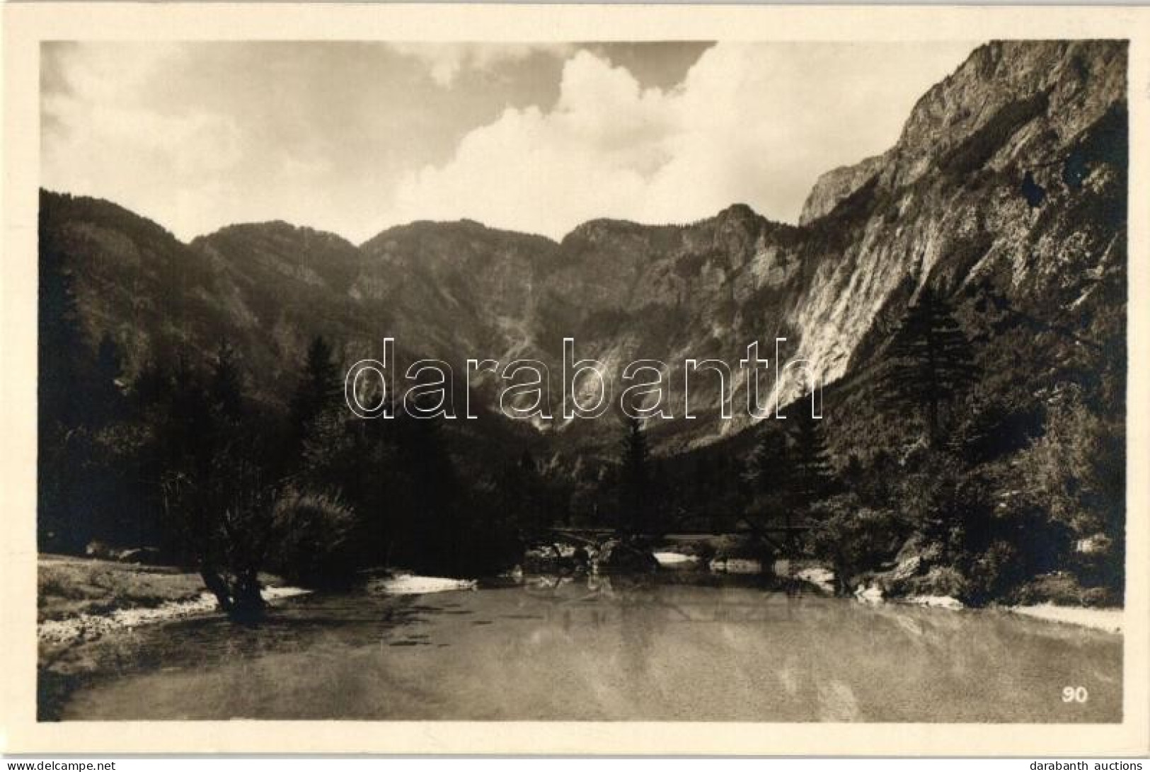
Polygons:
<instances>
[{"instance_id":1,"label":"tall dark conifer standing highest on right slope below the cliff face","mask_svg":"<svg viewBox=\"0 0 1150 772\"><path fill-rule=\"evenodd\" d=\"M976 377L969 339L945 298L923 286L907 307L888 353L892 360L883 382L888 398L919 406L927 438L937 446L942 405Z\"/></svg>"}]
</instances>

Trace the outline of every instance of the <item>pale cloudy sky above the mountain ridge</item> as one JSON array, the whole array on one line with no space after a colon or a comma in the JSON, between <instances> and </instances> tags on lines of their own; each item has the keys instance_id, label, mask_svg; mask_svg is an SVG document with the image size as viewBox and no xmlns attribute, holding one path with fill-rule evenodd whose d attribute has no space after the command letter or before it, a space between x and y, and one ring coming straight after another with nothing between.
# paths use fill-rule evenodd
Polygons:
<instances>
[{"instance_id":1,"label":"pale cloudy sky above the mountain ridge","mask_svg":"<svg viewBox=\"0 0 1150 772\"><path fill-rule=\"evenodd\" d=\"M972 43L45 43L41 185L190 240L285 220L561 238L735 202L796 222Z\"/></svg>"}]
</instances>

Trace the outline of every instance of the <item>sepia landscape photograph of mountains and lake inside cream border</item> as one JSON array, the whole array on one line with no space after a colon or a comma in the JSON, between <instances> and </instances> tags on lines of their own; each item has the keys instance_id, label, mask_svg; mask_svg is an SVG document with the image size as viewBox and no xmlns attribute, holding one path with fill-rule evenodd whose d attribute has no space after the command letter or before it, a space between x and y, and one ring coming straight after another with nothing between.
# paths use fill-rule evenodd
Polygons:
<instances>
[{"instance_id":1,"label":"sepia landscape photograph of mountains and lake inside cream border","mask_svg":"<svg viewBox=\"0 0 1150 772\"><path fill-rule=\"evenodd\" d=\"M34 43L34 723L1130 719L1130 39L466 29Z\"/></svg>"}]
</instances>

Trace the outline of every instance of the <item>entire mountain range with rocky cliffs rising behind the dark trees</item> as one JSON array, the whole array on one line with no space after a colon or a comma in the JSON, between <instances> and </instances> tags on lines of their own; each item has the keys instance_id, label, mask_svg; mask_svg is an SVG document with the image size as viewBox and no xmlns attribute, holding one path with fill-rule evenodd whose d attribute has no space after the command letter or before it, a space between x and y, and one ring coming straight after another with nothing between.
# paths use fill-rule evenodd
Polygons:
<instances>
[{"instance_id":1,"label":"entire mountain range with rocky cliffs rising behind the dark trees","mask_svg":"<svg viewBox=\"0 0 1150 772\"><path fill-rule=\"evenodd\" d=\"M557 420L543 428L568 448L613 435L558 420L564 337L613 374L667 362L680 416L683 361L722 359L742 385L737 361L753 341L773 359L785 337L783 358L807 360L823 383L862 377L928 284L959 301L989 380L1034 391L1082 366L1081 341L1125 357L1126 64L1121 41L984 45L919 100L895 146L819 179L799 226L734 205L687 226L596 220L560 243L461 221L360 246L282 222L182 244L116 205L44 192L41 253L61 257L89 336L112 334L129 369L227 337L259 392L283 400L315 334L347 362L378 357L385 336L401 367L534 358L551 367ZM781 402L806 388L792 380ZM490 377L476 392L497 404ZM705 445L750 423L742 391L735 420L714 420L718 397L699 374L700 420L653 426L657 446Z\"/></svg>"}]
</instances>

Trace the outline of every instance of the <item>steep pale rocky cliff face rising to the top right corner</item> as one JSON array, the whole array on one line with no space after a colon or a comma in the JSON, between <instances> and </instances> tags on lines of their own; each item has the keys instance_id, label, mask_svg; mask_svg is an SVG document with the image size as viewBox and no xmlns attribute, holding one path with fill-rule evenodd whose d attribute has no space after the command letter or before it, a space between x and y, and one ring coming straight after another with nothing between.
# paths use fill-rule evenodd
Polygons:
<instances>
[{"instance_id":1,"label":"steep pale rocky cliff face rising to the top right corner","mask_svg":"<svg viewBox=\"0 0 1150 772\"><path fill-rule=\"evenodd\" d=\"M975 51L879 162L815 188L804 246L828 254L788 318L802 354L839 377L873 353L876 320L927 282L951 295L994 286L1072 321L1064 304L1125 265L1125 94L1120 43Z\"/></svg>"}]
</instances>

